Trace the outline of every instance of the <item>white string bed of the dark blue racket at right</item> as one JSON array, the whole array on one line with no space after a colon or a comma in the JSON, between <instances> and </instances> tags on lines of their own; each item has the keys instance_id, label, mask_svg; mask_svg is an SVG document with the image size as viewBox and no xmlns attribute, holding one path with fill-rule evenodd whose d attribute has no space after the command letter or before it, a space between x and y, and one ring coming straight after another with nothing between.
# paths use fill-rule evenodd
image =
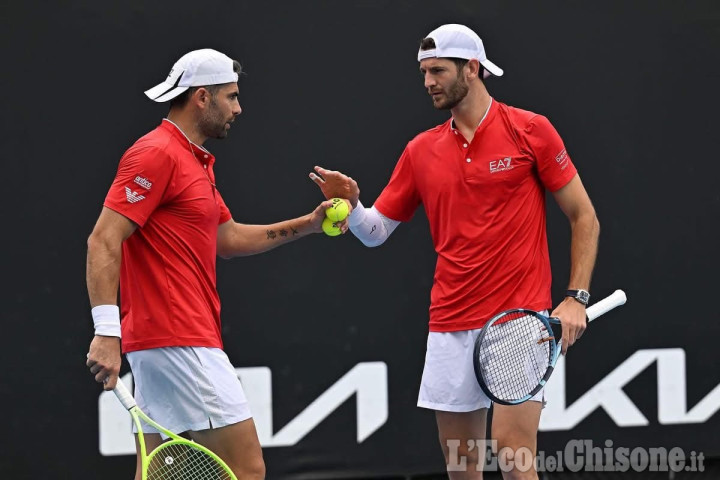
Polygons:
<instances>
[{"instance_id":1,"label":"white string bed of the dark blue racket at right","mask_svg":"<svg viewBox=\"0 0 720 480\"><path fill-rule=\"evenodd\" d=\"M512 312L489 326L479 349L480 374L495 397L520 400L550 365L553 332L527 312Z\"/></svg>"}]
</instances>

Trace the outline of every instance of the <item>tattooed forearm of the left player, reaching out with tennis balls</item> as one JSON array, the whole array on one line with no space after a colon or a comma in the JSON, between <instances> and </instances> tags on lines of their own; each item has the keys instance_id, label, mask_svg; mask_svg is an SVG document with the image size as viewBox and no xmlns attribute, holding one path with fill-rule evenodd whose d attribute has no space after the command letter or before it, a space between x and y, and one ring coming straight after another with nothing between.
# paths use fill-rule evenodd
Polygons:
<instances>
[{"instance_id":1,"label":"tattooed forearm of the left player, reaching out with tennis balls","mask_svg":"<svg viewBox=\"0 0 720 480\"><path fill-rule=\"evenodd\" d=\"M232 221L231 221L232 222ZM218 255L223 258L255 255L317 233L310 215L271 225L245 225L233 222L229 235L218 242ZM222 226L221 226L222 228Z\"/></svg>"}]
</instances>

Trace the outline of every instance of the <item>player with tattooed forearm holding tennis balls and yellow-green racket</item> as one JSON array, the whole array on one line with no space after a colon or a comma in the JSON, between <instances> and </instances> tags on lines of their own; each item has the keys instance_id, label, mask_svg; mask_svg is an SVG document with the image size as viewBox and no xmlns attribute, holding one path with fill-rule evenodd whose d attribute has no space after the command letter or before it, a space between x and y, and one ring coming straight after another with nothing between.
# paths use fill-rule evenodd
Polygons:
<instances>
[{"instance_id":1,"label":"player with tattooed forearm holding tennis balls and yellow-green racket","mask_svg":"<svg viewBox=\"0 0 720 480\"><path fill-rule=\"evenodd\" d=\"M222 350L215 259L265 252L321 232L331 202L272 225L233 220L215 185L215 158L203 144L225 138L241 112L240 70L220 52L196 50L145 92L170 102L170 112L123 155L88 239L95 336L87 365L105 390L113 389L122 342L143 411L210 448L238 478L261 479L265 465L255 424ZM162 438L149 425L143 430L151 432L145 434L151 451ZM138 456L136 479L140 475Z\"/></svg>"}]
</instances>

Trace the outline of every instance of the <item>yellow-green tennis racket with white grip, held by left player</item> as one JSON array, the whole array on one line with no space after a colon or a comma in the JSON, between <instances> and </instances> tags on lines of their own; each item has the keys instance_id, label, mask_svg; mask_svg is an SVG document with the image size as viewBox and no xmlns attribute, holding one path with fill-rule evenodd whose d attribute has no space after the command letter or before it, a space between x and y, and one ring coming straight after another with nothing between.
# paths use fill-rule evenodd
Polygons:
<instances>
[{"instance_id":1,"label":"yellow-green tennis racket with white grip, held by left player","mask_svg":"<svg viewBox=\"0 0 720 480\"><path fill-rule=\"evenodd\" d=\"M137 427L143 480L237 480L225 462L213 452L192 440L175 435L145 415L119 378L113 391L123 407L128 409ZM145 450L141 419L169 437L168 441L149 455Z\"/></svg>"}]
</instances>

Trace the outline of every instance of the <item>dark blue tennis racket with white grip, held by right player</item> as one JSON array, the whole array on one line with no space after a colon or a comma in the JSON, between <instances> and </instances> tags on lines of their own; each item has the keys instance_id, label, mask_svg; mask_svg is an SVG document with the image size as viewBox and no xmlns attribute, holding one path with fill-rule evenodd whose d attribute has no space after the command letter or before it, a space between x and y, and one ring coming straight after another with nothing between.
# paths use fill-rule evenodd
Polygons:
<instances>
[{"instance_id":1,"label":"dark blue tennis racket with white grip, held by right player","mask_svg":"<svg viewBox=\"0 0 720 480\"><path fill-rule=\"evenodd\" d=\"M622 290L586 310L591 322L627 297ZM495 315L475 340L473 364L480 388L493 402L517 405L530 400L547 383L560 355L560 320L533 310Z\"/></svg>"}]
</instances>

